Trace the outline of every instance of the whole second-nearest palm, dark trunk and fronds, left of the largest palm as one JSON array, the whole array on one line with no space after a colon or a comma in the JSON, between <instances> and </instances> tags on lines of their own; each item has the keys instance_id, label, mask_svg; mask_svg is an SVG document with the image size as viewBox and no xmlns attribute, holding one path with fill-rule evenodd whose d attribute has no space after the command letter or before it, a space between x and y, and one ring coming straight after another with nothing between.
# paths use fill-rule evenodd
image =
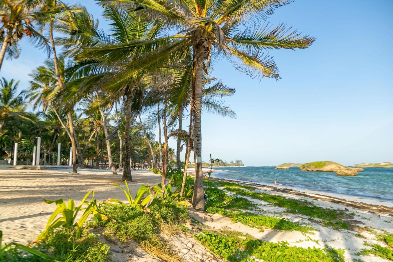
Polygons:
<instances>
[{"instance_id":1,"label":"whole second-nearest palm, dark trunk and fronds, left of the largest palm","mask_svg":"<svg viewBox=\"0 0 393 262\"><path fill-rule=\"evenodd\" d=\"M160 33L159 24L153 25L141 17L138 12L129 13L125 10L107 7L104 11L104 16L110 22L111 28L109 32L112 40L108 41L103 34L99 33L97 28L90 27L91 33L88 36L90 40L86 38L86 35L83 37L77 36L86 43L86 46L83 47L84 50L90 50L91 46L97 46L106 50L106 48L115 44L127 45L134 41L149 41L149 39L154 39ZM94 90L96 92L105 92L108 96L101 100L100 105L97 104L99 107L111 106L116 101L123 100L123 112L125 113L125 165L122 179L131 181L130 127L132 119L137 116L138 110L141 108L141 101L143 101L145 91L148 88L146 84L148 81L147 74L146 72L135 74L127 81L110 87L105 83L107 79L117 74L118 70L123 67L123 63L137 59L138 55L146 50L136 48L132 52L123 54L121 61L113 65L108 61L105 55L106 51L101 52L99 48L94 53L88 51L76 55L78 63L75 64L75 72L79 78L75 80L74 85L70 85L68 90L71 92L65 92L64 96L67 99L73 99L75 93L78 96L86 96ZM147 51L153 48L151 46Z\"/></svg>"}]
</instances>

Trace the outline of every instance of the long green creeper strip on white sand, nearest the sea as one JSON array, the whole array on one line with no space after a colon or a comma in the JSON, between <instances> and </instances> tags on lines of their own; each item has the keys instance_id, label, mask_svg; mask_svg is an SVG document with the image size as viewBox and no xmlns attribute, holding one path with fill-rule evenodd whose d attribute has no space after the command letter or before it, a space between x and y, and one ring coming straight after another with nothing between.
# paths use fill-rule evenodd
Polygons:
<instances>
[{"instance_id":1,"label":"long green creeper strip on white sand, nearest the sea","mask_svg":"<svg viewBox=\"0 0 393 262\"><path fill-rule=\"evenodd\" d=\"M322 220L323 225L333 227L334 229L351 229L352 225L343 221L344 218L353 218L353 213L347 214L344 211L323 208L313 205L310 201L289 199L283 196L274 196L266 193L257 193L238 188L228 188L226 190L236 193L237 195L247 196L254 199L263 200L273 205L287 209L287 212L293 214L302 214L310 218Z\"/></svg>"}]
</instances>

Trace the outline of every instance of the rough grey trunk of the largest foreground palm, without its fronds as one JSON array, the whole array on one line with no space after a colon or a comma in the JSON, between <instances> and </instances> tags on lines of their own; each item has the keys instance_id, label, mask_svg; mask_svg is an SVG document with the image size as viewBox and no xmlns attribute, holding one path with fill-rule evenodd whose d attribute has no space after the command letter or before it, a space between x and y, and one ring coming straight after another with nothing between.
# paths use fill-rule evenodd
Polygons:
<instances>
[{"instance_id":1,"label":"rough grey trunk of the largest foreground palm, without its fronds","mask_svg":"<svg viewBox=\"0 0 393 262\"><path fill-rule=\"evenodd\" d=\"M195 90L194 90L194 153L195 153L195 183L193 194L193 208L196 210L205 209L205 199L203 193L203 171L202 171L202 130L201 130L201 114L202 114L202 74L203 60L206 54L205 47L196 46L196 65L195 65Z\"/></svg>"}]
</instances>

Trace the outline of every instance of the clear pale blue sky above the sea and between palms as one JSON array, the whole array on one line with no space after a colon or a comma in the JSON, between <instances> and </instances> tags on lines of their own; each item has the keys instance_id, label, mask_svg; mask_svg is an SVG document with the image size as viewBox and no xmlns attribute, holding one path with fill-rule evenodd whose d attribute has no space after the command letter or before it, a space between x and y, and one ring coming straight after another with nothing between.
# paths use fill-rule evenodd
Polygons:
<instances>
[{"instance_id":1,"label":"clear pale blue sky above the sea and between palms","mask_svg":"<svg viewBox=\"0 0 393 262\"><path fill-rule=\"evenodd\" d=\"M101 18L93 0L81 3ZM212 153L250 166L393 162L392 13L391 0L297 0L277 9L272 24L293 25L316 42L270 52L279 81L250 79L228 61L215 66L213 76L236 88L226 101L238 118L203 114L203 160ZM6 61L0 74L28 88L29 72L45 59L25 39L20 58Z\"/></svg>"}]
</instances>

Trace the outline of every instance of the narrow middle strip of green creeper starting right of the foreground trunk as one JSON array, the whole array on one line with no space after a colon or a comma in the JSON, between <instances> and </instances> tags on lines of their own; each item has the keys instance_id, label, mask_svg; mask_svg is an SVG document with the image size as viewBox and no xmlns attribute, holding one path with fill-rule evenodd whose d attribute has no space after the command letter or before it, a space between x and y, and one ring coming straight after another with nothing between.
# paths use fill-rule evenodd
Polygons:
<instances>
[{"instance_id":1,"label":"narrow middle strip of green creeper starting right of the foreground trunk","mask_svg":"<svg viewBox=\"0 0 393 262\"><path fill-rule=\"evenodd\" d=\"M312 230L314 230L311 227L303 226L300 223L295 223L285 218L264 216L253 214L251 212L233 212L224 210L224 208L210 208L208 212L214 212L222 216L227 216L233 223L240 222L244 225L261 229L261 231L263 231L264 228L285 231L300 231L304 233L310 233Z\"/></svg>"}]
</instances>

